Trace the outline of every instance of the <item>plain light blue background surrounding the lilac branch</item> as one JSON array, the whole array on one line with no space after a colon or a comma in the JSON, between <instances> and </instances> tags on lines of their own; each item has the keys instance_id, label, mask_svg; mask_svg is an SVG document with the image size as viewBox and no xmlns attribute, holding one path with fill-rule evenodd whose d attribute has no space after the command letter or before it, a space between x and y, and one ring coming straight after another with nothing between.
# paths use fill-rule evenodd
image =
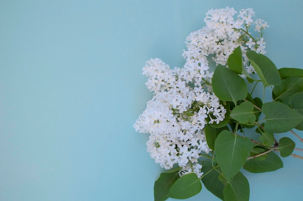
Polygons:
<instances>
[{"instance_id":1,"label":"plain light blue background surrounding the lilac branch","mask_svg":"<svg viewBox=\"0 0 303 201\"><path fill-rule=\"evenodd\" d=\"M186 36L226 6L252 7L267 56L302 68L301 0L1 0L0 201L152 201L163 170L132 127L152 97L142 67L182 67ZM251 201L302 199L303 160L282 159L243 171Z\"/></svg>"}]
</instances>

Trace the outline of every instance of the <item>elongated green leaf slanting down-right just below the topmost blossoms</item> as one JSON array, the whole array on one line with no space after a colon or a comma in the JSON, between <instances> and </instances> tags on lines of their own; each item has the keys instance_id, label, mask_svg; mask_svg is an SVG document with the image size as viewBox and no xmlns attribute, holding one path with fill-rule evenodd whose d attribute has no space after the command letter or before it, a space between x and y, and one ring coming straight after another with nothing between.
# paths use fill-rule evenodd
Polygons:
<instances>
[{"instance_id":1,"label":"elongated green leaf slanting down-right just below the topmost blossoms","mask_svg":"<svg viewBox=\"0 0 303 201\"><path fill-rule=\"evenodd\" d=\"M248 50L246 56L253 65L264 86L280 85L281 77L273 61L253 50Z\"/></svg>"}]
</instances>

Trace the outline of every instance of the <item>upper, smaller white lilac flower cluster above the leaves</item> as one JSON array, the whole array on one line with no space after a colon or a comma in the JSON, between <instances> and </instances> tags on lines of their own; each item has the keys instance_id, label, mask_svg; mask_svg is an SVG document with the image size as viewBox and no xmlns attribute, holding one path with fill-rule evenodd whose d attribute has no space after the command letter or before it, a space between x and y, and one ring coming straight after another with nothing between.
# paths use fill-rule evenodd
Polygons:
<instances>
[{"instance_id":1,"label":"upper, smaller white lilac flower cluster above the leaves","mask_svg":"<svg viewBox=\"0 0 303 201\"><path fill-rule=\"evenodd\" d=\"M245 56L246 50L255 50L265 54L265 42L263 30L269 27L264 20L252 17L255 12L251 8L242 9L234 19L237 12L233 8L210 10L204 19L206 27L194 31L186 38L187 50L183 52L186 58L185 66L192 66L199 62L205 62L206 56L213 55L212 60L216 64L226 65L228 56L241 44L243 63L248 73L255 72ZM254 25L261 38L255 39L249 33Z\"/></svg>"}]
</instances>

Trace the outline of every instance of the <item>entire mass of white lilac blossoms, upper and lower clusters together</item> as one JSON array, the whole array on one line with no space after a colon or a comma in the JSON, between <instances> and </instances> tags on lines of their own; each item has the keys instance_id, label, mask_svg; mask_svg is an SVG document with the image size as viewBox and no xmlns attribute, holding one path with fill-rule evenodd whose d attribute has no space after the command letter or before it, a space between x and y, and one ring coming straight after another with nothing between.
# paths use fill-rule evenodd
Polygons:
<instances>
[{"instance_id":1,"label":"entire mass of white lilac blossoms, upper and lower clusters together","mask_svg":"<svg viewBox=\"0 0 303 201\"><path fill-rule=\"evenodd\" d=\"M134 124L140 133L150 133L147 150L156 163L170 169L174 164L182 167L180 175L195 172L201 177L202 165L198 159L212 151L205 138L206 124L223 121L226 109L212 93L212 72L208 56L215 63L227 65L227 58L241 45L243 62L248 73L254 69L245 57L247 49L265 54L263 29L268 25L261 19L253 22L252 9L237 12L233 8L210 10L204 19L206 27L194 31L186 38L183 68L170 69L161 59L147 61L143 74L154 95ZM251 25L261 35L254 39L248 32Z\"/></svg>"}]
</instances>

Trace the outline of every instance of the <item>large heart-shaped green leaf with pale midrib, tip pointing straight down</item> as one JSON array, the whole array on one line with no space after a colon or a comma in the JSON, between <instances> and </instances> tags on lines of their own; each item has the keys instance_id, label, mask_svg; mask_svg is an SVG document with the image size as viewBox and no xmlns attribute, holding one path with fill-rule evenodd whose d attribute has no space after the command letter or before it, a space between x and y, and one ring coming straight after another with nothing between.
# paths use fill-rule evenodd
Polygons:
<instances>
[{"instance_id":1,"label":"large heart-shaped green leaf with pale midrib, tip pointing straight down","mask_svg":"<svg viewBox=\"0 0 303 201\"><path fill-rule=\"evenodd\" d=\"M233 135L223 130L215 143L215 156L227 181L229 181L244 165L253 144L249 138Z\"/></svg>"}]
</instances>

